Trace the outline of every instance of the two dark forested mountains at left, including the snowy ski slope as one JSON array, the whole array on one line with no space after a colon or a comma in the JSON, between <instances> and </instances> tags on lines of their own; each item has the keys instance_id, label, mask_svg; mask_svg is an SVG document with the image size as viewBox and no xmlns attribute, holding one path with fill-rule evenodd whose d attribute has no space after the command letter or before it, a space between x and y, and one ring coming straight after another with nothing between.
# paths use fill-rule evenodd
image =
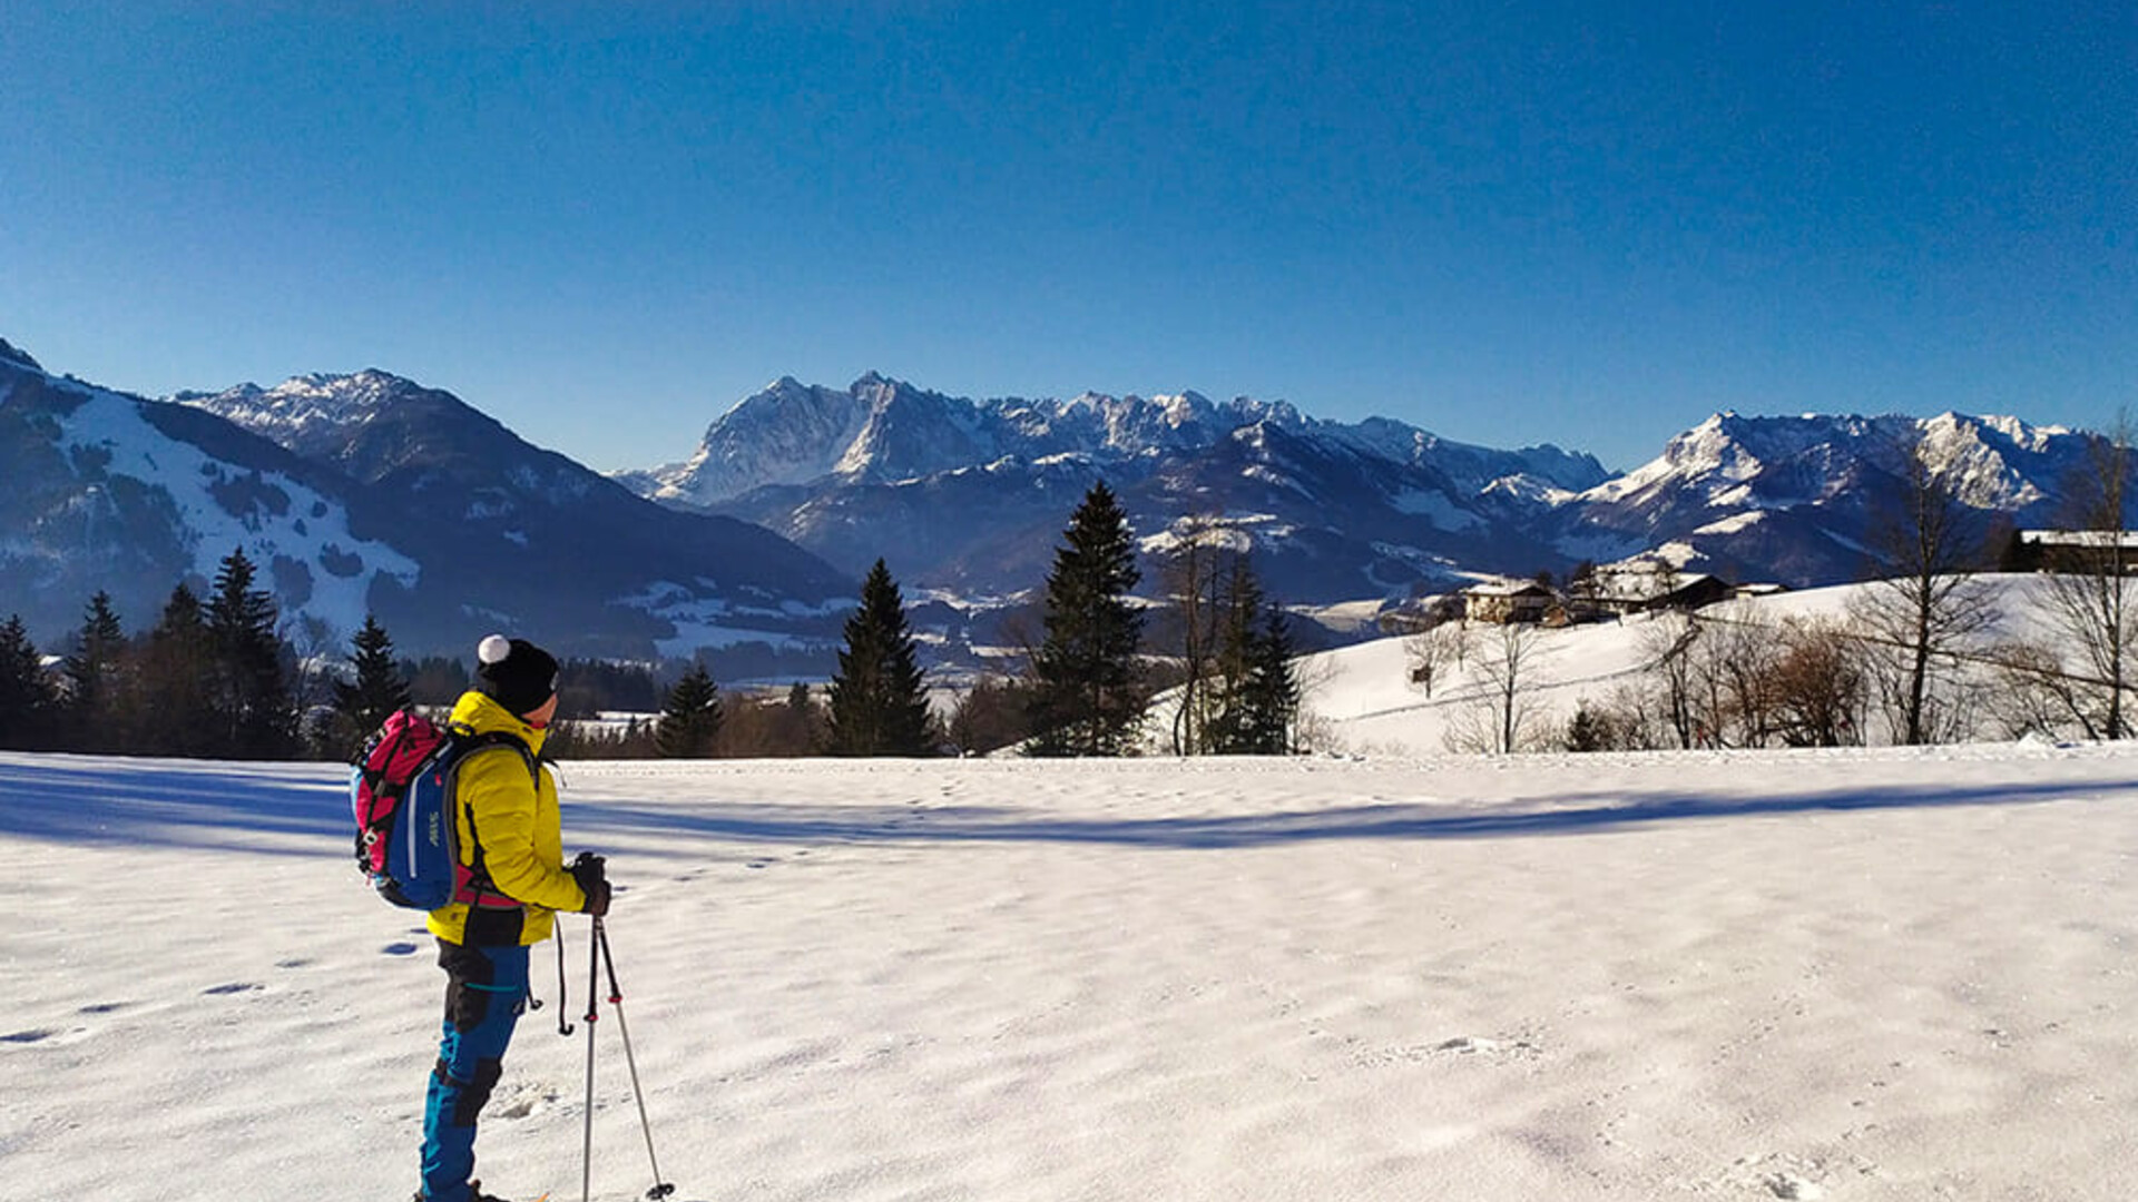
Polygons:
<instances>
[{"instance_id":1,"label":"two dark forested mountains at left, including the snowy ski slope","mask_svg":"<svg viewBox=\"0 0 2138 1202\"><path fill-rule=\"evenodd\" d=\"M4 344L0 344L4 346ZM143 400L0 353L0 614L38 646L107 590L128 629L242 548L299 648L363 616L404 652L492 629L575 654L815 663L851 582L746 522L652 505L385 372ZM793 652L793 654L787 654Z\"/></svg>"}]
</instances>

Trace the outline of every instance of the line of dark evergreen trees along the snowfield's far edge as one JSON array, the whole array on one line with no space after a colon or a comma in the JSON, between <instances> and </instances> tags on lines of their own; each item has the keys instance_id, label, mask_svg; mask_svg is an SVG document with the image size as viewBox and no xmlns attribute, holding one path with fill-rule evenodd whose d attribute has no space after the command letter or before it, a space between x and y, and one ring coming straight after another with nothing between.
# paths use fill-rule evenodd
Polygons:
<instances>
[{"instance_id":1,"label":"line of dark evergreen trees along the snowfield's far edge","mask_svg":"<svg viewBox=\"0 0 2138 1202\"><path fill-rule=\"evenodd\" d=\"M973 684L930 710L904 599L885 560L868 571L845 625L838 672L823 691L723 697L703 663L669 687L646 665L567 661L549 749L560 757L699 759L714 755L939 755L1022 746L1028 755L1131 755L1144 740L1155 678L1127 513L1093 486L1056 548L1045 584L1045 637L1028 672ZM1208 706L1193 751L1285 753L1298 678L1283 610L1268 605L1244 558L1208 605L1197 644ZM171 590L156 625L128 637L111 599L83 610L64 659L45 663L19 618L0 625L0 749L231 759L353 757L393 710L443 708L468 687L464 663L396 659L376 618L351 637L346 663L316 682L278 633L274 597L242 550L203 599ZM316 663L316 659L312 661ZM603 710L659 719L594 721Z\"/></svg>"}]
</instances>

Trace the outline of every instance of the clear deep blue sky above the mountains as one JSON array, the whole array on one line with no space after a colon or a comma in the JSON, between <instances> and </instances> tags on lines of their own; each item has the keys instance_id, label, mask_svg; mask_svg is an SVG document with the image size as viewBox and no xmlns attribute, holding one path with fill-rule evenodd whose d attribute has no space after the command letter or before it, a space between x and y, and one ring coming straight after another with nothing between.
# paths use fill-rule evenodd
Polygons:
<instances>
[{"instance_id":1,"label":"clear deep blue sky above the mountains","mask_svg":"<svg viewBox=\"0 0 2138 1202\"><path fill-rule=\"evenodd\" d=\"M2138 11L9 0L0 336L376 366L597 468L866 370L1621 468L1719 409L2104 426Z\"/></svg>"}]
</instances>

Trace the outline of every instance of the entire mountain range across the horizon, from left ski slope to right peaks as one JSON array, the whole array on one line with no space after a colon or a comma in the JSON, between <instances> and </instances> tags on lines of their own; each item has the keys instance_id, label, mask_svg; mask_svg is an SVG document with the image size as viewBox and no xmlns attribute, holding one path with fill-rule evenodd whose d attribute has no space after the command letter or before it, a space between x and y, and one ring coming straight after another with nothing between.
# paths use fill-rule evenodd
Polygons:
<instances>
[{"instance_id":1,"label":"entire mountain range across the horizon, from left ski slope to right peaks","mask_svg":"<svg viewBox=\"0 0 2138 1202\"><path fill-rule=\"evenodd\" d=\"M590 654L714 648L735 678L825 659L881 556L956 657L975 612L1037 590L1099 479L1142 537L1146 592L1193 524L1302 607L1644 554L1804 586L1877 571L1918 443L1984 526L2059 522L2089 464L2089 436L2012 417L1723 413L1614 477L1285 402L975 402L866 374L780 379L688 458L607 479L378 370L145 400L0 342L0 614L53 646L105 588L139 629L242 545L327 644L376 612L410 652L515 627Z\"/></svg>"}]
</instances>

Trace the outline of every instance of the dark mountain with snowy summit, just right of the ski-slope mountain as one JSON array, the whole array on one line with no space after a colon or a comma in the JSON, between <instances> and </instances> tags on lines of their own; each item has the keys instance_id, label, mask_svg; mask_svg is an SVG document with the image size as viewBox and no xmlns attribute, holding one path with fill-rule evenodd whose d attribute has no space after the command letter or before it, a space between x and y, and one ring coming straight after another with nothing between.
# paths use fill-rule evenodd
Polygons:
<instances>
[{"instance_id":1,"label":"dark mountain with snowy summit, just right of the ski-slope mountain","mask_svg":"<svg viewBox=\"0 0 2138 1202\"><path fill-rule=\"evenodd\" d=\"M571 652L723 650L723 667L746 676L827 657L832 607L851 597L840 573L778 535L654 505L387 372L184 394L184 404L398 503L423 533L438 595L400 605L393 629L423 644L487 620L558 631L552 644Z\"/></svg>"}]
</instances>

